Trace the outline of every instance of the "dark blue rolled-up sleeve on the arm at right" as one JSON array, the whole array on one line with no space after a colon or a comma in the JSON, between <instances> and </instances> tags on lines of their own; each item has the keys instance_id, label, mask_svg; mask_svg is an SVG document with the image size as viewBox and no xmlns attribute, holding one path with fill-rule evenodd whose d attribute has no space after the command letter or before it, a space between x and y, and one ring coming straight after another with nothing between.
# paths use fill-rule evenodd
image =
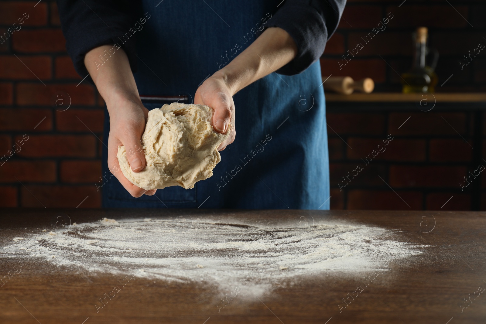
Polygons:
<instances>
[{"instance_id":1,"label":"dark blue rolled-up sleeve on the arm at right","mask_svg":"<svg viewBox=\"0 0 486 324\"><path fill-rule=\"evenodd\" d=\"M271 19L269 27L280 27L297 44L295 59L277 70L293 75L317 61L334 33L343 14L346 0L285 0Z\"/></svg>"}]
</instances>

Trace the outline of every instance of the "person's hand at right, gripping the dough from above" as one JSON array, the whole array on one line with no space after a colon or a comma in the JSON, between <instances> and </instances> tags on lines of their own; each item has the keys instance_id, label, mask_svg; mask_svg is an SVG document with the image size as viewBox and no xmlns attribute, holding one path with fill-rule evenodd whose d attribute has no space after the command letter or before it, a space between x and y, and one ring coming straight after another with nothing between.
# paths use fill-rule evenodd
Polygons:
<instances>
[{"instance_id":1,"label":"person's hand at right, gripping the dough from above","mask_svg":"<svg viewBox=\"0 0 486 324\"><path fill-rule=\"evenodd\" d=\"M216 72L206 79L197 89L194 103L208 105L214 110L211 125L216 132L226 133L231 124L228 138L218 148L218 151L223 151L227 145L233 143L236 136L233 93L224 75Z\"/></svg>"}]
</instances>

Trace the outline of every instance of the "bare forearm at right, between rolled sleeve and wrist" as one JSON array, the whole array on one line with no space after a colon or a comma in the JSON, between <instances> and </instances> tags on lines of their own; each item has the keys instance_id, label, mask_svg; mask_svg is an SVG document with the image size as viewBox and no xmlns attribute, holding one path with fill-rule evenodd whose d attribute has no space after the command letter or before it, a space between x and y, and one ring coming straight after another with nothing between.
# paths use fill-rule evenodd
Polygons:
<instances>
[{"instance_id":1,"label":"bare forearm at right, between rolled sleeve and wrist","mask_svg":"<svg viewBox=\"0 0 486 324\"><path fill-rule=\"evenodd\" d=\"M265 30L247 49L213 76L222 77L233 94L245 86L275 72L292 61L297 47L283 29Z\"/></svg>"}]
</instances>

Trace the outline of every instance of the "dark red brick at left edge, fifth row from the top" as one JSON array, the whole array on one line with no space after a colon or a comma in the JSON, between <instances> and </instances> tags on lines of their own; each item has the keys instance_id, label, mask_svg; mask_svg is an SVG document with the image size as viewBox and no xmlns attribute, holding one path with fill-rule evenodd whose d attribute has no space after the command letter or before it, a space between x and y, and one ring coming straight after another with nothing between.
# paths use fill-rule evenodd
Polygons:
<instances>
[{"instance_id":1,"label":"dark red brick at left edge, fifth row from the top","mask_svg":"<svg viewBox=\"0 0 486 324\"><path fill-rule=\"evenodd\" d=\"M51 109L0 108L0 129L25 131L29 134L50 131L52 129Z\"/></svg>"}]
</instances>

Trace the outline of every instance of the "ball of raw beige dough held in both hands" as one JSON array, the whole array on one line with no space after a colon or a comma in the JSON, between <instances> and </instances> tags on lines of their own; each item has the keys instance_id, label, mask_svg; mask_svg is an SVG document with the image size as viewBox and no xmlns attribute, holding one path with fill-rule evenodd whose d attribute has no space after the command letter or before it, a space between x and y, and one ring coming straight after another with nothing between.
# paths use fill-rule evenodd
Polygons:
<instances>
[{"instance_id":1,"label":"ball of raw beige dough held in both hands","mask_svg":"<svg viewBox=\"0 0 486 324\"><path fill-rule=\"evenodd\" d=\"M212 109L202 104L173 102L149 111L142 136L146 167L134 172L124 146L118 147L118 162L125 177L146 189L181 186L189 189L212 176L221 161L218 147L229 132L220 134L210 124ZM229 128L228 128L229 129Z\"/></svg>"}]
</instances>

